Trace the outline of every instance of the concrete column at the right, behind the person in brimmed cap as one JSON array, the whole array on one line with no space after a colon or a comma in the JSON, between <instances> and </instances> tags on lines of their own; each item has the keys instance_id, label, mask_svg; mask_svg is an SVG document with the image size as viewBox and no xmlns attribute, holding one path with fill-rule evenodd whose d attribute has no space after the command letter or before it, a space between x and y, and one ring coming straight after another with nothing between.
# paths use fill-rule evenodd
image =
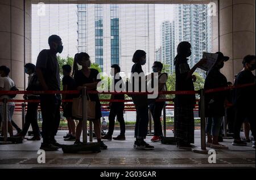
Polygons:
<instances>
[{"instance_id":1,"label":"concrete column at the right, behind the person in brimmed cap","mask_svg":"<svg viewBox=\"0 0 256 180\"><path fill-rule=\"evenodd\" d=\"M220 0L220 51L230 57L222 72L233 82L243 57L255 55L255 0Z\"/></svg>"}]
</instances>

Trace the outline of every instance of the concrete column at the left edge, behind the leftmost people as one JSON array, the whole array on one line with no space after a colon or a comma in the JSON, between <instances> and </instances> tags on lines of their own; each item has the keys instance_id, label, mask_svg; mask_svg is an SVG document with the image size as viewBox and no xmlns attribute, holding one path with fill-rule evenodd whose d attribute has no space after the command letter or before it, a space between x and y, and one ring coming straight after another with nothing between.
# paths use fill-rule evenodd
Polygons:
<instances>
[{"instance_id":1,"label":"concrete column at the left edge, behind the leftmost people","mask_svg":"<svg viewBox=\"0 0 256 180\"><path fill-rule=\"evenodd\" d=\"M24 90L24 1L0 1L0 65L8 66L10 78ZM22 99L23 95L16 98ZM21 115L15 112L14 121L21 127Z\"/></svg>"}]
</instances>

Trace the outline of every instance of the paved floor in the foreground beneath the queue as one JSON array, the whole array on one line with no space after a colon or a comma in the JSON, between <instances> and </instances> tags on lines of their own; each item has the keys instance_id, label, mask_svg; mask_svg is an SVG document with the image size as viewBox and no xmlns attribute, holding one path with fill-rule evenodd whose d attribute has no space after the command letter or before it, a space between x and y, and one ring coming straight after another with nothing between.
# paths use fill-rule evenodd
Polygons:
<instances>
[{"instance_id":1,"label":"paved floor in the foreground beneath the queue","mask_svg":"<svg viewBox=\"0 0 256 180\"><path fill-rule=\"evenodd\" d=\"M62 136L67 131L59 131L56 140L63 144ZM100 153L64 154L61 149L46 152L46 164L38 164L38 149L40 142L23 140L23 144L0 145L0 168L255 168L255 149L251 143L246 147L235 147L231 139L225 139L222 144L228 145L228 150L216 151L216 164L209 164L208 154L179 149L176 145L150 143L155 146L152 151L142 151L133 148L133 131L126 132L125 141L106 141L107 150ZM118 131L114 132L114 136ZM167 136L173 136L172 131ZM151 136L146 139L150 142ZM94 140L96 141L96 140ZM200 147L200 131L195 131L195 145Z\"/></svg>"}]
</instances>

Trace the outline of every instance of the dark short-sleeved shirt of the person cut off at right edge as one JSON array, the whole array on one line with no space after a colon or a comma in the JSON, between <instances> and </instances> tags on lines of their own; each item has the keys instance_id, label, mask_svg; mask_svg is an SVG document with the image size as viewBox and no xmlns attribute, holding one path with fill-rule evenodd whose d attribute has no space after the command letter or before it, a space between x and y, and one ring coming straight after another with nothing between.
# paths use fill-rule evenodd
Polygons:
<instances>
[{"instance_id":1,"label":"dark short-sleeved shirt of the person cut off at right edge","mask_svg":"<svg viewBox=\"0 0 256 180\"><path fill-rule=\"evenodd\" d=\"M255 76L251 71L241 71L237 75L234 85L255 83ZM245 114L253 114L255 111L255 85L234 89L234 106L242 109ZM254 113L255 114L255 113Z\"/></svg>"}]
</instances>

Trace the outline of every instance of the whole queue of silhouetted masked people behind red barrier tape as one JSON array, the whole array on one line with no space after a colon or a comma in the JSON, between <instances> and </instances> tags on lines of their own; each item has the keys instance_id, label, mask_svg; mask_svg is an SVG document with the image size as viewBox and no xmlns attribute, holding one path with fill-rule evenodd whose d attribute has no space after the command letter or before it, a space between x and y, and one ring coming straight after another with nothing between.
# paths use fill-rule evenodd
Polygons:
<instances>
[{"instance_id":1,"label":"whole queue of silhouetted masked people behind red barrier tape","mask_svg":"<svg viewBox=\"0 0 256 180\"><path fill-rule=\"evenodd\" d=\"M31 63L26 64L25 72L28 74L28 91L59 91L60 90L60 67L57 62L57 53L63 51L63 44L61 38L57 35L52 35L48 38L49 49L42 50L36 62L36 66ZM191 44L187 41L180 42L177 46L177 55L174 59L176 84L175 91L195 91L194 83L196 82L196 76L193 73L204 63L207 63L207 59L202 58L192 68L189 67L188 61L191 56ZM208 71L207 78L205 79L204 88L220 88L228 87L228 81L226 77L221 73L221 68L224 67L224 62L229 60L229 57L224 56L221 52L217 52L218 58L214 66ZM134 65L131 68L131 75L134 73L140 74L139 78L131 76L131 85L134 92L134 84L138 83L138 92L143 92L142 86L150 83L155 83L155 77L157 76L158 91L167 91L167 79L168 74L162 72L163 64L161 62L154 62L152 65L152 74L145 75L142 66L146 64L146 52L143 50L137 50L133 55ZM243 59L243 70L237 75L234 85L255 83L255 75L252 71L255 70L255 55L247 55ZM63 90L79 90L81 91L84 87L88 90L96 90L97 85L101 82L101 79L97 79L98 71L94 68L90 68L91 61L90 56L87 53L77 53L73 62L72 67L64 65L63 69ZM79 70L81 66L81 70ZM15 84L13 80L9 78L9 68L0 67L0 91L10 91L11 87ZM71 73L72 72L72 73ZM125 83L121 76L121 67L119 65L112 65L113 76L113 88L119 83L119 89L125 89ZM143 78L146 79L146 84L143 84ZM230 84L230 83L229 83ZM154 85L153 85L154 86ZM230 115L234 113L229 112L229 131L234 132L233 145L246 145L240 138L240 129L243 122L250 123L250 130L255 139L255 85L246 88L234 89L232 93L227 91L208 93L205 95L205 115L207 117L207 147L214 149L228 149L225 145L220 144L219 135L222 126L222 117L225 115L225 108L227 104L232 104L232 109L229 106L229 111L234 110L234 121L230 120ZM76 95L63 95L63 100L70 100L76 97ZM1 96L3 98L10 98L7 96ZM42 110L42 134L39 132L37 123L37 110L38 103L28 103L27 114L25 119L25 125L22 131L18 132L16 136L25 136L28 127L32 125L34 136L28 140L40 140L42 135L43 142L40 149L45 151L56 151L61 147L55 140L57 130L60 123L60 106L63 108L64 117L68 121L68 134L64 136L64 140L75 141L75 144L81 144L80 136L82 132L82 119L76 125L74 117L72 115L72 102L63 102L61 104L61 96L59 94L41 94L41 95L26 95L24 98L28 100L40 100L40 106ZM110 102L110 114L109 114L109 130L105 136L101 136L101 103L98 94L89 93L88 98L90 101L95 102L95 117L89 119L93 122L94 132L96 134L97 142L100 143L101 149L107 149L108 146L102 141L105 140L125 140L125 120L123 118L123 110L125 109L124 102ZM148 130L148 110L150 110L154 120L154 137L151 142L159 142L163 136L162 125L160 117L162 110L166 102L166 96L164 94L158 95L153 101L148 99L147 95L131 95L134 102L137 116L134 133L134 148L135 149L154 149L154 146L148 144L144 140L147 136ZM125 100L123 94L112 95L111 100ZM156 101L162 100L162 101ZM196 105L195 95L175 95L175 110L174 110L174 133L177 140L177 146L179 148L191 148L194 144L194 108ZM148 108L149 107L149 108ZM10 136L13 136L13 129L11 125L11 119L13 117L15 104L8 102L8 130ZM3 115L3 106L0 102L0 113ZM113 138L115 117L120 123L121 132ZM247 139L248 140L248 139ZM255 144L253 144L255 148Z\"/></svg>"}]
</instances>

